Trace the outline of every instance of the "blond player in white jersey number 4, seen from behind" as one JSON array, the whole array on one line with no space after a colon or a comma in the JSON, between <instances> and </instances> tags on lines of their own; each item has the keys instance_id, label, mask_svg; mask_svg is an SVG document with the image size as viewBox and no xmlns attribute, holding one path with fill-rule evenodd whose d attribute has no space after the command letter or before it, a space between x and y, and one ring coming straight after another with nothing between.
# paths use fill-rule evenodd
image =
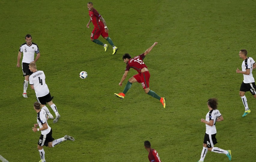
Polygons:
<instances>
[{"instance_id":1,"label":"blond player in white jersey number 4, seen from behind","mask_svg":"<svg viewBox=\"0 0 256 162\"><path fill-rule=\"evenodd\" d=\"M29 84L32 90L35 90L35 95L37 101L41 103L41 108L44 109L50 119L54 119L46 104L50 105L53 109L56 118L53 120L53 123L56 123L59 120L59 112L56 108L56 105L52 102L53 97L51 97L50 91L47 84L45 83L45 75L43 71L36 69L35 63L29 64L29 69L32 71L32 75L29 76Z\"/></svg>"}]
</instances>

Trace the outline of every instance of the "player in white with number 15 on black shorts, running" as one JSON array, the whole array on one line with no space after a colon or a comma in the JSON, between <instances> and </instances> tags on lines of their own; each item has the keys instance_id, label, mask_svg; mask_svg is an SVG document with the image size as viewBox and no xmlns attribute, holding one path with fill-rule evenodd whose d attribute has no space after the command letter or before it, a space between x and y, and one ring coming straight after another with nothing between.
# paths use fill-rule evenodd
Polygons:
<instances>
[{"instance_id":1,"label":"player in white with number 15 on black shorts, running","mask_svg":"<svg viewBox=\"0 0 256 162\"><path fill-rule=\"evenodd\" d=\"M65 135L62 138L54 140L54 138L52 137L52 129L47 123L47 114L43 109L40 108L39 102L34 103L34 109L37 112L37 124L34 124L34 127L32 127L32 130L34 132L41 131L41 136L38 141L37 149L39 151L39 155L41 158L41 161L39 162L45 162L45 158L44 158L45 153L43 149L44 146L54 147L57 144L61 143L62 141L66 141L66 140L74 141L75 139L71 136ZM38 126L39 128L36 128Z\"/></svg>"}]
</instances>

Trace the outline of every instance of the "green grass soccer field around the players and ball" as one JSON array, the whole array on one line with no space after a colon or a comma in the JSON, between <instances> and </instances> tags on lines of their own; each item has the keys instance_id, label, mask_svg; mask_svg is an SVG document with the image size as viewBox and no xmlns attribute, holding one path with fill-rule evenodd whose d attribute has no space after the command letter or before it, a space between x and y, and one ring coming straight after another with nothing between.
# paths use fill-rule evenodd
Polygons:
<instances>
[{"instance_id":1,"label":"green grass soccer field around the players and ball","mask_svg":"<svg viewBox=\"0 0 256 162\"><path fill-rule=\"evenodd\" d=\"M109 37L119 48L90 41L93 24L87 1L0 1L1 98L0 155L9 162L39 161L34 133L35 92L22 96L22 69L17 54L25 35L31 34L41 57L50 93L61 118L49 120L53 137L68 134L67 141L44 148L47 162L148 161L144 141L149 140L162 162L195 162L200 159L205 133L206 102L219 99L224 117L218 122L216 147L230 149L232 161L255 161L256 100L247 92L251 114L242 118L239 96L243 80L240 49L255 57L255 0L233 1L93 1L105 19ZM107 43L102 37L103 43ZM124 73L122 55L137 56L154 42L145 57L151 74L150 89L166 98L166 108L134 83L123 100L118 83ZM21 61L20 61L21 63ZM88 77L80 79L86 71ZM256 73L254 72L254 77ZM49 110L53 111L48 106ZM205 162L228 161L224 154L208 152Z\"/></svg>"}]
</instances>

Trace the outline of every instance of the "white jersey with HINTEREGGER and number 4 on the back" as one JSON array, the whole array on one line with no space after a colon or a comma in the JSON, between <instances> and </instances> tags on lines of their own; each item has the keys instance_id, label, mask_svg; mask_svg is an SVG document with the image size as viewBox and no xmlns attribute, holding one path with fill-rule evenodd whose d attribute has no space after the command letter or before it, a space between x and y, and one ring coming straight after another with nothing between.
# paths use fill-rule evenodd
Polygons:
<instances>
[{"instance_id":1,"label":"white jersey with HINTEREGGER and number 4 on the back","mask_svg":"<svg viewBox=\"0 0 256 162\"><path fill-rule=\"evenodd\" d=\"M29 84L34 85L35 96L46 96L50 91L45 83L45 75L43 71L36 71L29 76Z\"/></svg>"}]
</instances>

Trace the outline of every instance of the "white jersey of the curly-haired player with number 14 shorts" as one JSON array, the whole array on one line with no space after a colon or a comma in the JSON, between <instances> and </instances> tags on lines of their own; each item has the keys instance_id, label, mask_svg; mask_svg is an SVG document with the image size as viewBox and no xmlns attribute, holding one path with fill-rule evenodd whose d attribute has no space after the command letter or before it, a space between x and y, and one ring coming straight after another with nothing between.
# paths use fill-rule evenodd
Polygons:
<instances>
[{"instance_id":1,"label":"white jersey of the curly-haired player with number 14 shorts","mask_svg":"<svg viewBox=\"0 0 256 162\"><path fill-rule=\"evenodd\" d=\"M205 124L206 125L206 134L216 134L217 133L215 124L216 124L216 119L219 116L221 116L221 113L217 109L216 110L211 110L206 114L205 120L207 122L209 122L210 120L213 120L213 125L212 126Z\"/></svg>"}]
</instances>

